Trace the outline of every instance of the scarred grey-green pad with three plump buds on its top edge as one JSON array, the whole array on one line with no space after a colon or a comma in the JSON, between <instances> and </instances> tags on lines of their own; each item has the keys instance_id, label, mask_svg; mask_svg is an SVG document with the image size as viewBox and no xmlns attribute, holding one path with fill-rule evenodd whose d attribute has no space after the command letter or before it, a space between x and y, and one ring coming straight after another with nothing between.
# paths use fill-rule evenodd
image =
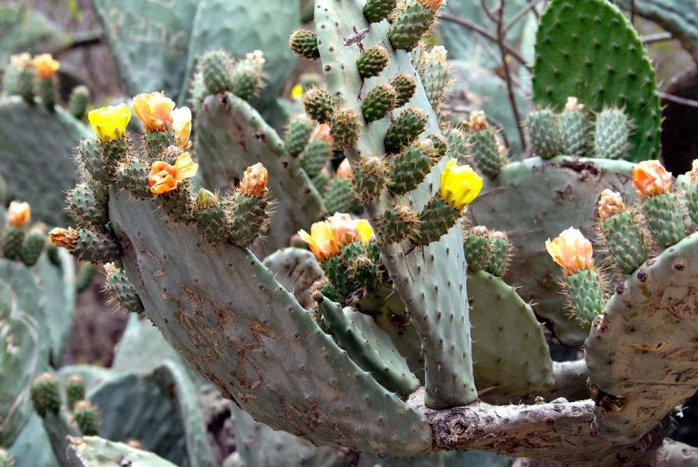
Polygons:
<instances>
[{"instance_id":1,"label":"scarred grey-green pad with three plump buds on its top edge","mask_svg":"<svg viewBox=\"0 0 698 467\"><path fill-rule=\"evenodd\" d=\"M473 225L503 230L512 243L512 264L504 281L521 286L524 302L553 324L556 336L579 346L588 336L577 320L567 316L562 276L545 250L545 241L560 232L579 228L596 238L597 201L605 188L620 192L626 202L637 202L632 188L632 163L558 156L549 161L529 158L505 165L495 181L485 179L480 195L466 211ZM505 214L503 214L505 213ZM595 256L602 255L597 248Z\"/></svg>"}]
</instances>

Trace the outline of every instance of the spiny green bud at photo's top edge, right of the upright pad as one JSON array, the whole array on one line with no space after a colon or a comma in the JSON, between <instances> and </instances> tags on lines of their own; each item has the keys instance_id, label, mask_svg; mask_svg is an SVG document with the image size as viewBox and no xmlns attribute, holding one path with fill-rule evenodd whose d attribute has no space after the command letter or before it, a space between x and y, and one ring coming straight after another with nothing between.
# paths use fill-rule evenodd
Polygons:
<instances>
[{"instance_id":1,"label":"spiny green bud at photo's top edge, right of the upright pad","mask_svg":"<svg viewBox=\"0 0 698 467\"><path fill-rule=\"evenodd\" d=\"M440 2L430 0L405 0L399 11L393 13L388 38L393 47L410 52L424 33L436 22L436 10Z\"/></svg>"}]
</instances>

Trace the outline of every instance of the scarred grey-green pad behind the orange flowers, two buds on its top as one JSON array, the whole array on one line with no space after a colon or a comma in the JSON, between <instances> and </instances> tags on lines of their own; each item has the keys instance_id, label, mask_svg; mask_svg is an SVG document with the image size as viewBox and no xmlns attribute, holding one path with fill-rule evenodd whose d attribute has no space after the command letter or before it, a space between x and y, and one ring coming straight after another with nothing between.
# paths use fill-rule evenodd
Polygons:
<instances>
[{"instance_id":1,"label":"scarred grey-green pad behind the orange flowers, two buds on its top","mask_svg":"<svg viewBox=\"0 0 698 467\"><path fill-rule=\"evenodd\" d=\"M320 221L322 200L299 161L260 114L230 93L207 96L195 120L196 156L205 188L223 192L261 162L269 172L269 198L277 202L265 241L253 250L264 258L288 246L298 230Z\"/></svg>"}]
</instances>

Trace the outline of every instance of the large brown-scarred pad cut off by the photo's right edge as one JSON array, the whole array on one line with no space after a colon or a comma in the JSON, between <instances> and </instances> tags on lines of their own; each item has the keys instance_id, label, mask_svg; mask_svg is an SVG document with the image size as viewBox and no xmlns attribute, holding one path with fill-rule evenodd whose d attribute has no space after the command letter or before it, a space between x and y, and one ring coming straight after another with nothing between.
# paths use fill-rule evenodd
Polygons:
<instances>
[{"instance_id":1,"label":"large brown-scarred pad cut off by the photo's right edge","mask_svg":"<svg viewBox=\"0 0 698 467\"><path fill-rule=\"evenodd\" d=\"M586 364L609 443L634 443L695 392L697 251L693 234L645 262L594 320Z\"/></svg>"}]
</instances>

